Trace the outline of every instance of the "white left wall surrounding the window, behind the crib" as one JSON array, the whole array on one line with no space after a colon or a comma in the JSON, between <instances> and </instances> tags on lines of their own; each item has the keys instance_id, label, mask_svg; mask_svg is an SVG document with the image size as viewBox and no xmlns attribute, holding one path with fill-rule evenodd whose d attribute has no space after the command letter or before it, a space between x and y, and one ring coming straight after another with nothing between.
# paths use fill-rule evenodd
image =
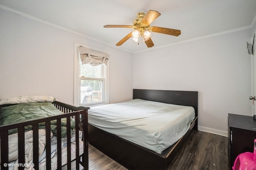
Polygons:
<instances>
[{"instance_id":1,"label":"white left wall surrounding the window, behind the crib","mask_svg":"<svg viewBox=\"0 0 256 170\"><path fill-rule=\"evenodd\" d=\"M110 53L110 103L132 98L131 53L2 9L0 98L50 95L73 104L74 43Z\"/></svg>"}]
</instances>

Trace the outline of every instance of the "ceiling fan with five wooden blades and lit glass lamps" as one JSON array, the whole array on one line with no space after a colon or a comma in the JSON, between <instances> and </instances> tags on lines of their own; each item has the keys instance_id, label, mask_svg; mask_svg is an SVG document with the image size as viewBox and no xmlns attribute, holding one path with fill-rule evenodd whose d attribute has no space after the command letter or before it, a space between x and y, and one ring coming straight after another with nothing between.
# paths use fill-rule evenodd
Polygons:
<instances>
[{"instance_id":1,"label":"ceiling fan with five wooden blades and lit glass lamps","mask_svg":"<svg viewBox=\"0 0 256 170\"><path fill-rule=\"evenodd\" d=\"M170 29L164 27L156 27L150 26L156 18L158 18L161 14L157 11L149 10L148 13L145 15L143 12L139 12L137 14L137 18L133 21L133 25L105 25L104 28L133 28L134 31L130 32L126 35L123 39L121 39L116 46L122 45L125 41L132 39L136 41L138 44L139 42L144 41L147 47L153 47L154 43L151 39L151 32L156 33L163 33L167 35L174 35L179 36L180 30L178 29Z\"/></svg>"}]
</instances>

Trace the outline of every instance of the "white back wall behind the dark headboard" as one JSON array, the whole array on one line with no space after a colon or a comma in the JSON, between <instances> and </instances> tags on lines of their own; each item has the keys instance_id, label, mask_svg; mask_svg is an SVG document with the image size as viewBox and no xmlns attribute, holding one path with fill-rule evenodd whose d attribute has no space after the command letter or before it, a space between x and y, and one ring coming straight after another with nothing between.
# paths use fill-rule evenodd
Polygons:
<instances>
[{"instance_id":1,"label":"white back wall behind the dark headboard","mask_svg":"<svg viewBox=\"0 0 256 170\"><path fill-rule=\"evenodd\" d=\"M199 129L227 136L228 113L252 111L250 37L246 29L136 53L133 86L198 91Z\"/></svg>"}]
</instances>

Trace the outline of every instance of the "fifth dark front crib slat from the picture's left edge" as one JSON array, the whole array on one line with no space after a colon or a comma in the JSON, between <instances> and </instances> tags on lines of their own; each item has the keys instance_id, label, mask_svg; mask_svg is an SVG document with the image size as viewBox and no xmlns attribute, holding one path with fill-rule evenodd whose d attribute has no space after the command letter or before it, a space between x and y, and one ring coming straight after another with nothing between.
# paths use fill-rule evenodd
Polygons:
<instances>
[{"instance_id":1,"label":"fifth dark front crib slat from the picture's left edge","mask_svg":"<svg viewBox=\"0 0 256 170\"><path fill-rule=\"evenodd\" d=\"M61 119L57 119L57 168L60 170L61 160Z\"/></svg>"}]
</instances>

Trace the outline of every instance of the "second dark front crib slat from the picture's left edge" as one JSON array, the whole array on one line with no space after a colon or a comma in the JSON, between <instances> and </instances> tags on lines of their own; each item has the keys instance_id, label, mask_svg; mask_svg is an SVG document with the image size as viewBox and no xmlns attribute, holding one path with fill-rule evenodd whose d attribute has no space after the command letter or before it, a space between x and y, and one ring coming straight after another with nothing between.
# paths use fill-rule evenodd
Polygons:
<instances>
[{"instance_id":1,"label":"second dark front crib slat from the picture's left edge","mask_svg":"<svg viewBox=\"0 0 256 170\"><path fill-rule=\"evenodd\" d=\"M25 137L24 127L18 128L18 162L19 164L25 164ZM23 170L24 167L19 166L19 170Z\"/></svg>"}]
</instances>

